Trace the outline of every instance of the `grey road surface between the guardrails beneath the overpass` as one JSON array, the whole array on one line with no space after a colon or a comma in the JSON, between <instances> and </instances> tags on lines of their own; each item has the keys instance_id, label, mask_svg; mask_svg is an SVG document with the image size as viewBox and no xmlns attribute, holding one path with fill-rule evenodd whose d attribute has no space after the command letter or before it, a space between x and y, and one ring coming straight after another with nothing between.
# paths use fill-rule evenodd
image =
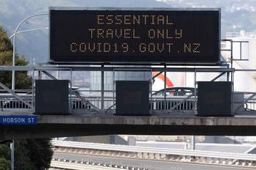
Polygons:
<instances>
[{"instance_id":1,"label":"grey road surface between the guardrails beneath the overpass","mask_svg":"<svg viewBox=\"0 0 256 170\"><path fill-rule=\"evenodd\" d=\"M114 158L109 156L84 155L77 153L54 152L53 158L63 158L66 160L83 160L94 163L106 163L122 166L133 166L150 170L249 170L255 169L238 166L224 166L215 164L182 163L165 160L144 160L135 158ZM68 168L68 167L67 167Z\"/></svg>"}]
</instances>

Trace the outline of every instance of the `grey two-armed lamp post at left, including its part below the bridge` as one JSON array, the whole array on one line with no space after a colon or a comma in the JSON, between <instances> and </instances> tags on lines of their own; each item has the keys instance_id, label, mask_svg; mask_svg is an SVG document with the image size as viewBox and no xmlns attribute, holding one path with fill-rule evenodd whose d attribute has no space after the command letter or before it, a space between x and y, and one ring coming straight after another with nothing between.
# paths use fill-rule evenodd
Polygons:
<instances>
[{"instance_id":1,"label":"grey two-armed lamp post at left, including its part below the bridge","mask_svg":"<svg viewBox=\"0 0 256 170\"><path fill-rule=\"evenodd\" d=\"M24 23L26 20L28 20L29 18L35 17L35 16L40 16L40 15L48 15L48 13L40 13L40 14L35 14L35 15L30 15L26 18L24 18L20 23L18 23L18 26L15 29L15 32L13 35L10 36L10 39L13 37L13 67L15 66L15 35L21 32L18 32L18 28L21 26L22 23ZM41 29L45 29L45 28L41 28ZM31 31L35 31L35 30L39 30L39 29L29 29L29 30L25 30L22 32L31 32ZM15 89L15 70L13 70L13 76L12 76L12 90ZM14 170L14 140L13 142L10 144L10 148L11 148L11 170Z\"/></svg>"}]
</instances>

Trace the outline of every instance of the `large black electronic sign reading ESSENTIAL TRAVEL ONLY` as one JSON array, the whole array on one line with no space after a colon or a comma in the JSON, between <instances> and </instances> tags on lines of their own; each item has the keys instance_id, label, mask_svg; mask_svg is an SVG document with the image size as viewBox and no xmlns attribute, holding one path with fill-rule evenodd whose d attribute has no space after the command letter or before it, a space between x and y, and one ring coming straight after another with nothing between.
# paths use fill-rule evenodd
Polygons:
<instances>
[{"instance_id":1,"label":"large black electronic sign reading ESSENTIAL TRAVEL ONLY","mask_svg":"<svg viewBox=\"0 0 256 170\"><path fill-rule=\"evenodd\" d=\"M216 64L220 9L50 7L50 62Z\"/></svg>"}]
</instances>

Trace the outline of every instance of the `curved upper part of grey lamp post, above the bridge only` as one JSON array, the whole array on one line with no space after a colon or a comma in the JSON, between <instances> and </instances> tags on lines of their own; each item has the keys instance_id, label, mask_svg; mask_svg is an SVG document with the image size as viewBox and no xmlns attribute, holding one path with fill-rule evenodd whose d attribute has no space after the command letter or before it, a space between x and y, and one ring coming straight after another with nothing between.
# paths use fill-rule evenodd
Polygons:
<instances>
[{"instance_id":1,"label":"curved upper part of grey lamp post, above the bridge only","mask_svg":"<svg viewBox=\"0 0 256 170\"><path fill-rule=\"evenodd\" d=\"M13 35L13 67L15 66L15 35L18 32L18 28L21 26L22 23L24 23L29 18L32 18L35 16L40 16L40 15L48 15L48 13L40 13L40 14L30 15L30 16L24 18L20 23L18 23L18 26L16 27L14 35ZM13 90L15 89L15 70L13 70L13 76L12 76L12 89Z\"/></svg>"}]
</instances>

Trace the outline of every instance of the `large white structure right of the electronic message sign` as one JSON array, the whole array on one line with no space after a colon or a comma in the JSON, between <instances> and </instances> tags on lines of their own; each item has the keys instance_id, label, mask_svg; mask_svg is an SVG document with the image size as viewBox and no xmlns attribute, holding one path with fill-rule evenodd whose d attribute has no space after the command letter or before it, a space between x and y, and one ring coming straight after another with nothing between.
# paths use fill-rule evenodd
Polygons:
<instances>
[{"instance_id":1,"label":"large white structure right of the electronic message sign","mask_svg":"<svg viewBox=\"0 0 256 170\"><path fill-rule=\"evenodd\" d=\"M233 67L235 69L256 69L256 32L228 32L227 39L233 41ZM225 42L222 48L230 49L230 42ZM230 61L230 52L222 52ZM255 72L235 72L234 90L237 92L256 92Z\"/></svg>"}]
</instances>

